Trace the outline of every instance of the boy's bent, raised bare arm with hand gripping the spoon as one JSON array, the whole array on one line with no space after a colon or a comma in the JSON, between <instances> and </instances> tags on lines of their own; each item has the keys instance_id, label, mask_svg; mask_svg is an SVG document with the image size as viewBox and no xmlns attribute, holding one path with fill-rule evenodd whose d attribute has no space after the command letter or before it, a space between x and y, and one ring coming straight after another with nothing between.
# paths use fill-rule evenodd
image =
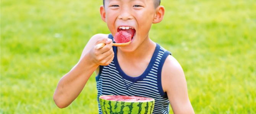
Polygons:
<instances>
[{"instance_id":1,"label":"boy's bent, raised bare arm with hand gripping the spoon","mask_svg":"<svg viewBox=\"0 0 256 114\"><path fill-rule=\"evenodd\" d=\"M96 44L106 43L100 49L95 49ZM107 35L92 36L84 47L79 62L60 81L53 94L53 100L59 108L65 108L78 97L86 82L99 65L108 65L113 60L112 41Z\"/></svg>"}]
</instances>

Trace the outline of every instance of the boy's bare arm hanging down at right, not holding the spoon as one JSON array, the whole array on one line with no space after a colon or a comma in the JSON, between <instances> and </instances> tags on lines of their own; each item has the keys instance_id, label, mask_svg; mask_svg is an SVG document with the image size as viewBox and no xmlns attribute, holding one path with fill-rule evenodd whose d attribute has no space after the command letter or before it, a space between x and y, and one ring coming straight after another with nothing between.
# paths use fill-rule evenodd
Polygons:
<instances>
[{"instance_id":1,"label":"boy's bare arm hanging down at right, not holding the spoon","mask_svg":"<svg viewBox=\"0 0 256 114\"><path fill-rule=\"evenodd\" d=\"M174 114L194 114L185 75L178 61L171 55L165 60L162 69L162 87L167 92Z\"/></svg>"}]
</instances>

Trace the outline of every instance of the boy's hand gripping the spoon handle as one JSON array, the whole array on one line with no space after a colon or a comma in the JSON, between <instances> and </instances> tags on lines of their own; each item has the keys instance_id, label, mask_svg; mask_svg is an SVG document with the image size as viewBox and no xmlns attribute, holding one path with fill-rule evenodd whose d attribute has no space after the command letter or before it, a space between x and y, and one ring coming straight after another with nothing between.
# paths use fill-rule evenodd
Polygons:
<instances>
[{"instance_id":1,"label":"boy's hand gripping the spoon handle","mask_svg":"<svg viewBox=\"0 0 256 114\"><path fill-rule=\"evenodd\" d=\"M106 45L100 49L96 49L96 45L99 43L105 43ZM114 59L112 45L112 40L109 38L100 38L97 40L94 44L94 47L92 47L91 51L89 52L92 58L92 62L102 66L109 65Z\"/></svg>"}]
</instances>

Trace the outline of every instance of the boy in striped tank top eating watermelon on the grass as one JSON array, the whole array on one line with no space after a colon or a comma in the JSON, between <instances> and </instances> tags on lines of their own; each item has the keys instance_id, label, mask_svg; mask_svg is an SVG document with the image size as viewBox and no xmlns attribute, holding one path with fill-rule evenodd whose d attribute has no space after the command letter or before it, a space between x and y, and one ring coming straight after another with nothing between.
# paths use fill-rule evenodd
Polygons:
<instances>
[{"instance_id":1,"label":"boy in striped tank top eating watermelon on the grass","mask_svg":"<svg viewBox=\"0 0 256 114\"><path fill-rule=\"evenodd\" d=\"M91 74L96 72L100 95L128 95L155 99L153 114L193 114L186 79L180 64L170 52L149 38L151 25L164 17L160 0L104 0L101 18L112 34L92 36L79 62L58 83L53 99L65 108L78 97ZM115 33L132 35L124 47L112 46ZM100 49L96 45L105 43ZM99 107L99 113L101 109Z\"/></svg>"}]
</instances>

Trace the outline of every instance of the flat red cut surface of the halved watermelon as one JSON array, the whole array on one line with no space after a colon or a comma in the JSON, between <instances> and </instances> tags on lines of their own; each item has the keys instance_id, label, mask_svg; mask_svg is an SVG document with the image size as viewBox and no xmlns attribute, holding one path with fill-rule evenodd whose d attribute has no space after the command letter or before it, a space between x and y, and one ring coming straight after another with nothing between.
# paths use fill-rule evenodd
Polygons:
<instances>
[{"instance_id":1,"label":"flat red cut surface of the halved watermelon","mask_svg":"<svg viewBox=\"0 0 256 114\"><path fill-rule=\"evenodd\" d=\"M122 95L106 95L101 96L101 99L110 100L110 101L125 101L125 102L144 102L144 101L153 101L152 98L146 97L136 97L136 96L122 96Z\"/></svg>"}]
</instances>

